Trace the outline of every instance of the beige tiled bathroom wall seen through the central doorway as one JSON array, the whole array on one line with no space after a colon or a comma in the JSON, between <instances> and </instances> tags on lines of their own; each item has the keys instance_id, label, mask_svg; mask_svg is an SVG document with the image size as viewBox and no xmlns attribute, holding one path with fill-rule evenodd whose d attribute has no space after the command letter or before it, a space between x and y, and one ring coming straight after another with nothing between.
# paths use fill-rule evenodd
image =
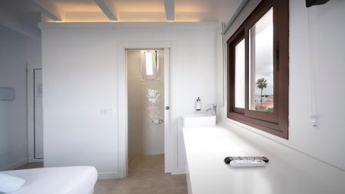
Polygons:
<instances>
[{"instance_id":1,"label":"beige tiled bathroom wall seen through the central doorway","mask_svg":"<svg viewBox=\"0 0 345 194\"><path fill-rule=\"evenodd\" d=\"M159 80L141 80L140 52L127 51L128 155L164 154L164 123L152 124L164 119L164 50L158 50Z\"/></svg>"}]
</instances>

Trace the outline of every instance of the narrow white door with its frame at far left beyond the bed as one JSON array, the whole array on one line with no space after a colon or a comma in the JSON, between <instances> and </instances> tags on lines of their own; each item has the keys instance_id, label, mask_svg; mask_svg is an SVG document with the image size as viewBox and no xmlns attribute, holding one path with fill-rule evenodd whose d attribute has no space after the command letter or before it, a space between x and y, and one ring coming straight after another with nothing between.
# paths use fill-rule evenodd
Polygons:
<instances>
[{"instance_id":1,"label":"narrow white door with its frame at far left beyond the bed","mask_svg":"<svg viewBox=\"0 0 345 194\"><path fill-rule=\"evenodd\" d=\"M28 153L29 162L43 161L42 69L28 68Z\"/></svg>"}]
</instances>

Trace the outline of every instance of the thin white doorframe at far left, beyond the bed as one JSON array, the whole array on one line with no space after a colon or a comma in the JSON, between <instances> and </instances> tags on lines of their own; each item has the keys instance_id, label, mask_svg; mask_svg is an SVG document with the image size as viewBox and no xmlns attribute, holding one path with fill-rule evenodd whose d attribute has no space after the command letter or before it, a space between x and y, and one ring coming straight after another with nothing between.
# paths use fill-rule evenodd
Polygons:
<instances>
[{"instance_id":1,"label":"thin white doorframe at far left, beyond the bed","mask_svg":"<svg viewBox=\"0 0 345 194\"><path fill-rule=\"evenodd\" d=\"M43 158L34 155L34 70L42 70L41 66L27 66L27 105L28 105L28 162L43 162Z\"/></svg>"}]
</instances>

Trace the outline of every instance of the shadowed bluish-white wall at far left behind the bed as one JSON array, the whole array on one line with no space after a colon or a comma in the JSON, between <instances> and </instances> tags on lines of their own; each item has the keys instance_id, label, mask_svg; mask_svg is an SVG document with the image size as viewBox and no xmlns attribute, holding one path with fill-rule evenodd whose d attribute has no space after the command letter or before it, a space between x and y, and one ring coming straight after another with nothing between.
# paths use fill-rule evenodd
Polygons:
<instances>
[{"instance_id":1,"label":"shadowed bluish-white wall at far left behind the bed","mask_svg":"<svg viewBox=\"0 0 345 194\"><path fill-rule=\"evenodd\" d=\"M0 87L15 90L14 101L0 100L0 170L27 161L26 37L0 25Z\"/></svg>"}]
</instances>

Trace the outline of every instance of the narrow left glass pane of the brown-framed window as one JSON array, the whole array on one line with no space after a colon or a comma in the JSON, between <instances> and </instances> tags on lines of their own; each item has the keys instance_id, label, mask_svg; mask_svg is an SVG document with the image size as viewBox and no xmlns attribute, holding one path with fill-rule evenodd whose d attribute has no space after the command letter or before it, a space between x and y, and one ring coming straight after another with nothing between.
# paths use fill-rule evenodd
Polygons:
<instances>
[{"instance_id":1,"label":"narrow left glass pane of the brown-framed window","mask_svg":"<svg viewBox=\"0 0 345 194\"><path fill-rule=\"evenodd\" d=\"M244 39L235 47L235 107L244 108Z\"/></svg>"}]
</instances>

